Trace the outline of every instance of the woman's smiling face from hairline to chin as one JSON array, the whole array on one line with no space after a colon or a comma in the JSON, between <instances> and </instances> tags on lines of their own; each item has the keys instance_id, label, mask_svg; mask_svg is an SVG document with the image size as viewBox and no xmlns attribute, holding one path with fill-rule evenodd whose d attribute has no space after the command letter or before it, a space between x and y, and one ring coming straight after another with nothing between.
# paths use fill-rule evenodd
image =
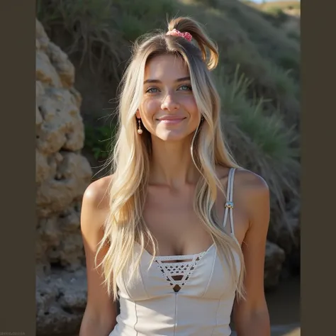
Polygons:
<instances>
[{"instance_id":1,"label":"woman's smiling face from hairline to chin","mask_svg":"<svg viewBox=\"0 0 336 336\"><path fill-rule=\"evenodd\" d=\"M160 55L147 62L136 116L152 136L162 140L183 140L196 130L201 116L183 60Z\"/></svg>"}]
</instances>

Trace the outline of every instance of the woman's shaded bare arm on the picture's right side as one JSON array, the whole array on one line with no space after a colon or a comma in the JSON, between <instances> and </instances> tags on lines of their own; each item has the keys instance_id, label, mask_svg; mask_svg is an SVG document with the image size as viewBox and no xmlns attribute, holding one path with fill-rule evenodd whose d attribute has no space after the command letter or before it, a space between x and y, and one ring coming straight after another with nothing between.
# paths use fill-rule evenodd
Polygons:
<instances>
[{"instance_id":1,"label":"woman's shaded bare arm on the picture's right side","mask_svg":"<svg viewBox=\"0 0 336 336\"><path fill-rule=\"evenodd\" d=\"M242 243L245 259L245 300L235 301L233 321L237 336L270 336L269 311L264 296L264 258L269 227L269 188L256 175L244 192L250 225ZM251 181L252 180L252 181Z\"/></svg>"}]
</instances>

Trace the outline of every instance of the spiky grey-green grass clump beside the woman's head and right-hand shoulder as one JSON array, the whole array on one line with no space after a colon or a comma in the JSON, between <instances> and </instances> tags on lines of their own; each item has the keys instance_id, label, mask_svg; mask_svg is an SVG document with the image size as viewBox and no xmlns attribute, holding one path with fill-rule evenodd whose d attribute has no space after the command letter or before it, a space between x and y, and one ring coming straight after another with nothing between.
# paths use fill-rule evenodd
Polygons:
<instances>
[{"instance_id":1,"label":"spiky grey-green grass clump beside the woman's head and right-hand shoulder","mask_svg":"<svg viewBox=\"0 0 336 336\"><path fill-rule=\"evenodd\" d=\"M251 81L239 75L238 69L233 79L222 76L218 80L218 86L225 88L221 91L224 133L237 161L267 179L271 223L276 229L288 219L286 195L298 198L299 153L293 145L298 135L286 127L279 113L264 113L264 99L247 99L250 85Z\"/></svg>"}]
</instances>

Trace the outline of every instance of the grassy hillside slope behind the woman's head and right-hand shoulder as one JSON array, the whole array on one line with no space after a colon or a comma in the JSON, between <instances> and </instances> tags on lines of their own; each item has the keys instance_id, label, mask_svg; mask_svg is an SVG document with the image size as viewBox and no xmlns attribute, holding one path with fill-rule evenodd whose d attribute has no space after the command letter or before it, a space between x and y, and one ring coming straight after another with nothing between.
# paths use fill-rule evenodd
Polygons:
<instances>
[{"instance_id":1,"label":"grassy hillside slope behind the woman's head and right-hand shoulder","mask_svg":"<svg viewBox=\"0 0 336 336\"><path fill-rule=\"evenodd\" d=\"M295 40L236 0L38 0L38 18L51 38L65 36L70 59L78 53L89 57L92 71L114 82L133 40L148 30L165 29L167 16L176 15L196 18L218 43L221 58L214 75L225 133L239 163L269 183L276 230L286 220L287 201L298 200Z\"/></svg>"}]
</instances>

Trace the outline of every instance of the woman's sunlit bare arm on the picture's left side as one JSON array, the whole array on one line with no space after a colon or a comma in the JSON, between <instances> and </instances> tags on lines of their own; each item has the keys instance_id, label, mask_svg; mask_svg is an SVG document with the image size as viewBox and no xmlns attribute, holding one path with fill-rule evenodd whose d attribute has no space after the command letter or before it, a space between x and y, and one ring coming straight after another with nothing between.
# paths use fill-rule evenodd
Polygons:
<instances>
[{"instance_id":1,"label":"woman's sunlit bare arm on the picture's left side","mask_svg":"<svg viewBox=\"0 0 336 336\"><path fill-rule=\"evenodd\" d=\"M101 268L94 257L103 237L103 223L108 214L106 190L108 177L93 182L86 189L82 202L81 230L86 257L87 301L79 336L108 336L116 325L117 307L102 285ZM97 264L106 250L99 253Z\"/></svg>"}]
</instances>

